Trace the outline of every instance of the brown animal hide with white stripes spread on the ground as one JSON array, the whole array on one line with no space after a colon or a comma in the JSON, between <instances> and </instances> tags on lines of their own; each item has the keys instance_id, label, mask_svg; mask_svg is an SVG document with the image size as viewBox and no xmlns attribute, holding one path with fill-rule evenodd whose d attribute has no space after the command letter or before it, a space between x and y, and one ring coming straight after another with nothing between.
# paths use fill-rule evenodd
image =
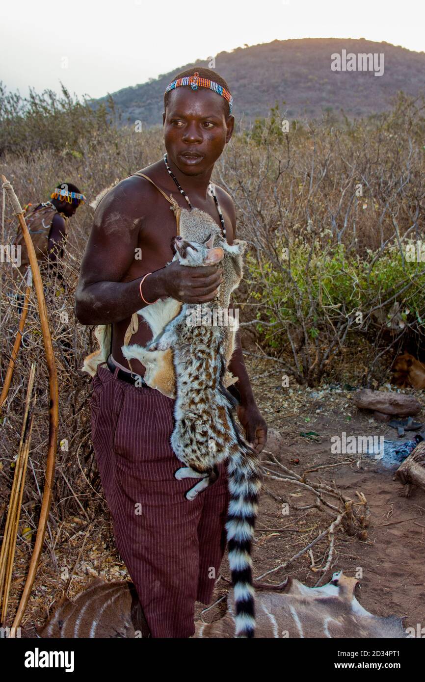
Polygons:
<instances>
[{"instance_id":1,"label":"brown animal hide with white stripes spread on the ground","mask_svg":"<svg viewBox=\"0 0 425 682\"><path fill-rule=\"evenodd\" d=\"M323 587L306 587L288 578L283 587L256 584L256 638L405 638L402 619L366 611L354 595L356 578L336 573ZM147 638L146 621L134 608L130 582L97 578L75 602L59 606L40 634L42 638ZM233 638L233 591L227 611L213 623L195 622L194 638ZM132 608L133 606L133 608Z\"/></svg>"}]
</instances>

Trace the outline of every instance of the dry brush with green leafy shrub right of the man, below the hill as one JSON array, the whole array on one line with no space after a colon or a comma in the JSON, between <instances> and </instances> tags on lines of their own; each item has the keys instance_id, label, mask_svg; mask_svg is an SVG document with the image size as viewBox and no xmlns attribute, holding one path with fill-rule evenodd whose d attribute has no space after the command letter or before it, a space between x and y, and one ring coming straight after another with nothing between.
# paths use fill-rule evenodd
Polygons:
<instances>
[{"instance_id":1,"label":"dry brush with green leafy shrub right of the man, below the hill","mask_svg":"<svg viewBox=\"0 0 425 682\"><path fill-rule=\"evenodd\" d=\"M261 320L257 341L298 383L362 338L366 381L392 346L425 350L425 266L405 258L424 239L424 106L400 95L379 117L293 121L287 134L275 108L216 168L252 246L244 323Z\"/></svg>"}]
</instances>

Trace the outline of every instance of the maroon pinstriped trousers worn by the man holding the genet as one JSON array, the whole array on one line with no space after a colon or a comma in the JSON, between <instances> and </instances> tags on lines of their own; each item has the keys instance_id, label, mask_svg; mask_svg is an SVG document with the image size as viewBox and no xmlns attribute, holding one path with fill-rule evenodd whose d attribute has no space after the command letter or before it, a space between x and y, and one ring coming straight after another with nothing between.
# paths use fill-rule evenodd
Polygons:
<instances>
[{"instance_id":1,"label":"maroon pinstriped trousers worn by the man holding the genet","mask_svg":"<svg viewBox=\"0 0 425 682\"><path fill-rule=\"evenodd\" d=\"M226 547L229 492L220 477L192 501L199 479L175 479L169 443L174 400L135 387L98 366L92 379L91 434L115 542L152 637L194 634L194 602L211 602Z\"/></svg>"}]
</instances>

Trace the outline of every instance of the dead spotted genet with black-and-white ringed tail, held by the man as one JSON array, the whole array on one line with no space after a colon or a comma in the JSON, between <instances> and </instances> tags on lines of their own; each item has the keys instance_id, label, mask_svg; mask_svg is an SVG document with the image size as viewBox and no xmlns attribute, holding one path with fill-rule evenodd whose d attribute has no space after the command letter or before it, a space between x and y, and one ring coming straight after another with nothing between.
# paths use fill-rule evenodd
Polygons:
<instances>
[{"instance_id":1,"label":"dead spotted genet with black-and-white ringed tail, held by the man","mask_svg":"<svg viewBox=\"0 0 425 682\"><path fill-rule=\"evenodd\" d=\"M213 243L214 235L205 243L176 237L175 257L188 267L211 265L223 258L241 263L245 242L235 241L229 246L220 241L212 248ZM216 303L213 300L198 304L201 322L214 321ZM177 389L171 446L186 465L175 475L201 479L186 493L187 499L194 499L214 483L217 464L229 460L231 499L226 531L235 595L236 636L252 637L255 621L250 554L261 485L257 454L239 434L233 418L237 401L223 385L229 328L214 323L192 324L194 308L193 304L184 303L179 314L153 339L149 351L173 351ZM140 346L123 346L122 351L128 359L145 353Z\"/></svg>"}]
</instances>

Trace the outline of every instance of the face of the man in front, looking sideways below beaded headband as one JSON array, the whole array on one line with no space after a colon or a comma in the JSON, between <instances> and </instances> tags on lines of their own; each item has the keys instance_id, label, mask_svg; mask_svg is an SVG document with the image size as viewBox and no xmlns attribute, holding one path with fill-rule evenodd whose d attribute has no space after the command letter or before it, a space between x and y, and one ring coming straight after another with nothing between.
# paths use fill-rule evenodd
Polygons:
<instances>
[{"instance_id":1,"label":"face of the man in front, looking sideways below beaded headband","mask_svg":"<svg viewBox=\"0 0 425 682\"><path fill-rule=\"evenodd\" d=\"M233 133L228 110L226 100L206 88L179 87L168 95L165 148L181 173L201 175L214 165Z\"/></svg>"}]
</instances>

